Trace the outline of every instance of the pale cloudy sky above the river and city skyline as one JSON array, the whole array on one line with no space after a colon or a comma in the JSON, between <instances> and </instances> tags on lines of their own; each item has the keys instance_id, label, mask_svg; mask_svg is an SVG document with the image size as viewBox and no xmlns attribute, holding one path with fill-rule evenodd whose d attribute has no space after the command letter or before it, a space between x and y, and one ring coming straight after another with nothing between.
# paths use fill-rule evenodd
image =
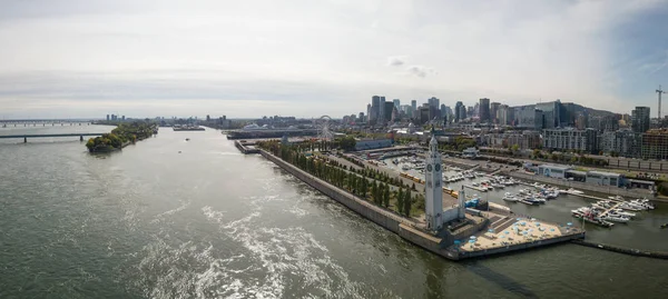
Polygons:
<instances>
[{"instance_id":1,"label":"pale cloudy sky above the river and city skyline","mask_svg":"<svg viewBox=\"0 0 668 299\"><path fill-rule=\"evenodd\" d=\"M668 0L0 7L1 119L341 117L366 112L374 94L656 116L655 90L668 90Z\"/></svg>"}]
</instances>

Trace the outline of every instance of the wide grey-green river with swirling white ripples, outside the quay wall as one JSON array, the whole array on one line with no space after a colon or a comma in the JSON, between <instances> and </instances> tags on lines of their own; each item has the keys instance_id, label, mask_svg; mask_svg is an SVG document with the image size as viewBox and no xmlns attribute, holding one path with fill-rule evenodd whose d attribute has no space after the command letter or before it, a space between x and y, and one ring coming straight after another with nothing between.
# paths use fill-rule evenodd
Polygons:
<instances>
[{"instance_id":1,"label":"wide grey-green river with swirling white ripples, outside the quay wall","mask_svg":"<svg viewBox=\"0 0 668 299\"><path fill-rule=\"evenodd\" d=\"M451 262L213 130L0 141L0 298L665 298L666 269L574 245Z\"/></svg>"}]
</instances>

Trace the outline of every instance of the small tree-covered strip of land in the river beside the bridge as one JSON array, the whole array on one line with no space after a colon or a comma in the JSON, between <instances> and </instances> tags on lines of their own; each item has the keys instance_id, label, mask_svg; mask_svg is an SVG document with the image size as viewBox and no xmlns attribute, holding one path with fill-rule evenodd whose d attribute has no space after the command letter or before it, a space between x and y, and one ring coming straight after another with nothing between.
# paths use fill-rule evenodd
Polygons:
<instances>
[{"instance_id":1,"label":"small tree-covered strip of land in the river beside the bridge","mask_svg":"<svg viewBox=\"0 0 668 299\"><path fill-rule=\"evenodd\" d=\"M134 121L130 123L120 123L110 133L88 139L86 148L90 152L116 151L127 144L135 143L137 140L149 138L157 133L157 131L158 126L153 122Z\"/></svg>"}]
</instances>

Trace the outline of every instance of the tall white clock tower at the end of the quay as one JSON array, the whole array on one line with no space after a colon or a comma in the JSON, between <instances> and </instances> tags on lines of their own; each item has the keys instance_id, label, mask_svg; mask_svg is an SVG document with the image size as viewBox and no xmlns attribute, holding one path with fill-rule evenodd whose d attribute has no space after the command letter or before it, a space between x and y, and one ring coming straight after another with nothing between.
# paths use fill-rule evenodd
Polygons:
<instances>
[{"instance_id":1,"label":"tall white clock tower at the end of the quay","mask_svg":"<svg viewBox=\"0 0 668 299\"><path fill-rule=\"evenodd\" d=\"M429 153L426 155L424 172L424 220L430 230L440 230L443 226L443 161L439 152L439 141L432 128L432 139L429 142Z\"/></svg>"}]
</instances>

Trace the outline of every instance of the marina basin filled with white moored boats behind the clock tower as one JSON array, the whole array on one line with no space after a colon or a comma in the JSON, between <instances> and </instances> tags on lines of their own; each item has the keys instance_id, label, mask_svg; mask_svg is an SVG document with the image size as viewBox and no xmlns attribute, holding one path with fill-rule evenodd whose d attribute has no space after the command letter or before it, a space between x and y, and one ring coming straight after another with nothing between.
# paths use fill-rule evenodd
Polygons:
<instances>
[{"instance_id":1,"label":"marina basin filled with white moored boats behind the clock tower","mask_svg":"<svg viewBox=\"0 0 668 299\"><path fill-rule=\"evenodd\" d=\"M407 167L404 169L397 169L391 161L375 161L379 167L385 167L391 170L404 172L407 176L416 176L418 178L423 176L422 169L419 167L413 168L412 165L420 166L420 159L416 157L393 157L396 161L409 161ZM374 160L371 160L374 161ZM448 165L446 159L444 163ZM403 163L397 163L403 165ZM407 170L405 170L407 169ZM483 169L483 168L480 168ZM582 208L582 206L591 205L599 200L608 199L607 196L591 193L588 191L578 190L574 188L557 188L547 186L541 182L530 182L522 179L517 179L507 176L492 175L480 170L471 170L474 178L469 179L465 177L466 169L462 169L461 166L449 165L443 171L443 186L451 190L460 190L462 187L468 191L466 198L469 200L478 198L482 201L489 202L490 206L499 205L510 208L515 215L530 216L546 221L552 221L561 225L573 223L577 227L581 227L587 230L587 241L589 242L601 242L608 245L616 245L619 247L637 248L645 250L665 250L668 245L661 247L655 242L642 242L637 241L642 239L648 233L660 233L661 225L667 222L665 216L665 203L655 202L656 210L642 210L632 211L625 210L620 205L617 208L611 207L610 212L605 215L606 222L612 223L610 228L606 228L605 222L588 221L587 219L578 218L572 213L572 210ZM499 172L497 172L499 173ZM463 179L462 179L463 178ZM503 185L503 189L494 188L492 180L510 181L514 185ZM491 188L490 188L491 187ZM616 199L616 198L613 198ZM608 199L610 200L610 199ZM662 207L662 208L661 208ZM660 211L657 213L657 211ZM625 217L628 217L630 212L638 213L626 221ZM622 222L616 222L622 221ZM617 226L615 226L617 223ZM659 225L656 225L659 223ZM621 237L623 236L623 237Z\"/></svg>"}]
</instances>

